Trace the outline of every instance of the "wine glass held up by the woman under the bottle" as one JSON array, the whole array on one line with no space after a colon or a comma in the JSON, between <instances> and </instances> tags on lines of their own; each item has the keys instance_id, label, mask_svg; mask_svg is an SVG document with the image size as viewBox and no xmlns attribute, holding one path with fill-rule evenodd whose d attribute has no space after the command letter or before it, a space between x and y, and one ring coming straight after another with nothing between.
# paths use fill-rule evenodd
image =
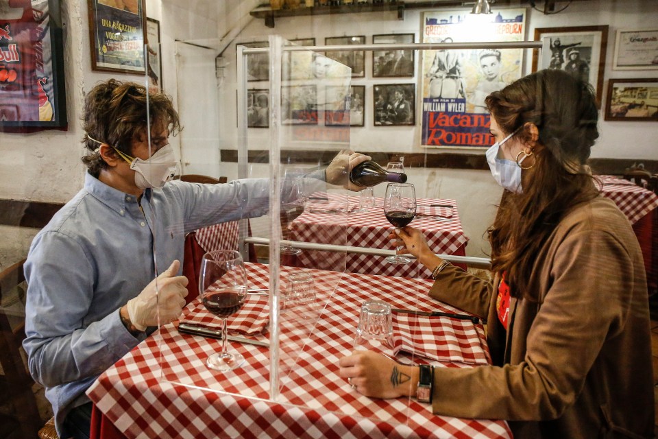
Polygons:
<instances>
[{"instance_id":1,"label":"wine glass held up by the woman under the bottle","mask_svg":"<svg viewBox=\"0 0 658 439\"><path fill-rule=\"evenodd\" d=\"M384 197L384 215L398 230L411 222L416 215L416 192L411 183L389 183ZM411 259L398 254L402 248L398 237L395 256L389 256L389 263L409 263Z\"/></svg>"}]
</instances>

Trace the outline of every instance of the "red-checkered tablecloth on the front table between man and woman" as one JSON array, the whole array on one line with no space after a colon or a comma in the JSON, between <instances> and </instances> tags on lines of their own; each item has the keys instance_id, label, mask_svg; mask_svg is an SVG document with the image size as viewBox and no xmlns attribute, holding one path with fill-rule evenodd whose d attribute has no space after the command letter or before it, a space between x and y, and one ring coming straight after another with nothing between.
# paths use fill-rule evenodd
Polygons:
<instances>
[{"instance_id":1,"label":"red-checkered tablecloth on the front table between man and woman","mask_svg":"<svg viewBox=\"0 0 658 439\"><path fill-rule=\"evenodd\" d=\"M250 283L267 286L267 266L247 266ZM281 315L279 352L284 358L276 402L269 399L268 348L230 342L245 356L245 365L233 372L215 372L205 361L221 342L182 335L173 323L104 372L88 396L128 438L511 438L504 421L438 416L430 405L415 399L370 399L339 377L338 361L352 352L363 301L457 311L428 298L430 282L315 270L313 278L318 317ZM449 319L441 319L441 324L449 324ZM469 335L455 333L476 337L486 351L483 327L474 327Z\"/></svg>"}]
</instances>

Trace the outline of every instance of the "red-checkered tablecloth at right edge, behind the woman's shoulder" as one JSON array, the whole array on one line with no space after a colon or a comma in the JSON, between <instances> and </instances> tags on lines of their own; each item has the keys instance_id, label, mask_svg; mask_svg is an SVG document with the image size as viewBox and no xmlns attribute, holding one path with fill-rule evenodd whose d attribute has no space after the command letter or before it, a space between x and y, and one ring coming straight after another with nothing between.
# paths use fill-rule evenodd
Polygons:
<instances>
[{"instance_id":1,"label":"red-checkered tablecloth at right edge, behind the woman's shoulder","mask_svg":"<svg viewBox=\"0 0 658 439\"><path fill-rule=\"evenodd\" d=\"M602 182L601 194L616 202L631 224L658 207L658 195L634 182L615 176L597 176Z\"/></svg>"}]
</instances>

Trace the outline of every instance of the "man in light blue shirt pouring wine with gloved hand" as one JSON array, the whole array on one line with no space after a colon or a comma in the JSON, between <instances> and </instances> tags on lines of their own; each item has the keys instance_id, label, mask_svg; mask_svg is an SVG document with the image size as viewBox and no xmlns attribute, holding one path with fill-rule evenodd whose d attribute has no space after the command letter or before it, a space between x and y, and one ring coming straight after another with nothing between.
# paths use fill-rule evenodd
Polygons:
<instances>
[{"instance_id":1,"label":"man in light blue shirt pouring wine with gloved hand","mask_svg":"<svg viewBox=\"0 0 658 439\"><path fill-rule=\"evenodd\" d=\"M167 182L178 163L168 137L180 125L165 95L147 100L144 86L108 80L86 95L82 121L84 189L34 238L25 263L23 347L62 438L88 436L85 391L98 375L144 340L148 328L180 316L185 234L264 215L269 204L265 178ZM366 158L341 152L324 171L328 182L351 187L345 165ZM282 199L293 195L292 183L284 182Z\"/></svg>"}]
</instances>

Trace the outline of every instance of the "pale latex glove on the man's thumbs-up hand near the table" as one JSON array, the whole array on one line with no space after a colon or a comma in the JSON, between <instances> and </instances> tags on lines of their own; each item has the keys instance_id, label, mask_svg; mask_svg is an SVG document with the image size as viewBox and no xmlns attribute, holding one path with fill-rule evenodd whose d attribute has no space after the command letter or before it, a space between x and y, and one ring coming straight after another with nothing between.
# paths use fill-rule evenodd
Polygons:
<instances>
[{"instance_id":1,"label":"pale latex glove on the man's thumbs-up hand near the table","mask_svg":"<svg viewBox=\"0 0 658 439\"><path fill-rule=\"evenodd\" d=\"M185 276L175 276L180 268L178 259L173 261L167 270L154 278L142 292L128 300L126 307L130 322L139 331L147 327L158 326L158 308L160 308L160 324L169 323L180 316L185 306L188 280ZM156 283L158 292L156 292Z\"/></svg>"}]
</instances>

